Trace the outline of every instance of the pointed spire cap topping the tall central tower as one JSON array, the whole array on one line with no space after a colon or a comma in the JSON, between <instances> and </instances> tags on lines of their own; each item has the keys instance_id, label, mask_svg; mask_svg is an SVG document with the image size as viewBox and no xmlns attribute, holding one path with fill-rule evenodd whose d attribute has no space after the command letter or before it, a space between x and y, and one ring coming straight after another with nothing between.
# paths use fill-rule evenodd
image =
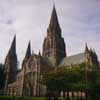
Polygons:
<instances>
[{"instance_id":1,"label":"pointed spire cap topping the tall central tower","mask_svg":"<svg viewBox=\"0 0 100 100\"><path fill-rule=\"evenodd\" d=\"M61 36L61 28L58 22L58 17L56 13L56 8L55 5L53 6L53 11L50 19L50 24L47 29L48 34L54 34L54 35L59 35Z\"/></svg>"}]
</instances>

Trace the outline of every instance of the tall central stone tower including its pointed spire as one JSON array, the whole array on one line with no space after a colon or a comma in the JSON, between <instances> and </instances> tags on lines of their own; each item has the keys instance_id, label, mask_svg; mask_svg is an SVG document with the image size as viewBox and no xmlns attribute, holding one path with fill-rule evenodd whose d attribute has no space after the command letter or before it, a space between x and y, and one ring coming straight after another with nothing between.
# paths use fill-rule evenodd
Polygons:
<instances>
[{"instance_id":1,"label":"tall central stone tower including its pointed spire","mask_svg":"<svg viewBox=\"0 0 100 100\"><path fill-rule=\"evenodd\" d=\"M61 35L55 5L47 28L47 37L44 39L42 55L47 57L53 66L58 65L61 59L66 56L65 42Z\"/></svg>"}]
</instances>

